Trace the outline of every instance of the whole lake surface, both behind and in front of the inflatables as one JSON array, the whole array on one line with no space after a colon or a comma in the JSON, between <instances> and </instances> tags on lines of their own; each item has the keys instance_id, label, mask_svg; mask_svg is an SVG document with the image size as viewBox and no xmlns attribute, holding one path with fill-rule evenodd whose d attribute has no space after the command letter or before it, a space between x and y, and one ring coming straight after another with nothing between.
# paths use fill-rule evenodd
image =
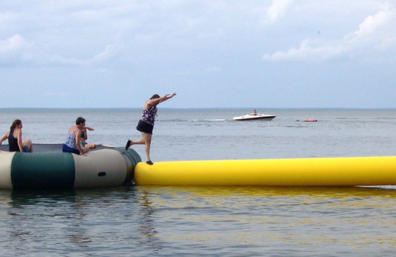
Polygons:
<instances>
[{"instance_id":1,"label":"whole lake surface, both behind and in front of the inflatables","mask_svg":"<svg viewBox=\"0 0 396 257\"><path fill-rule=\"evenodd\" d=\"M155 161L395 155L396 110L161 109ZM0 109L35 143L62 143L78 116L89 142L140 136L139 109ZM304 119L317 119L306 123ZM297 121L299 120L299 122ZM144 147L133 148L145 158ZM0 190L0 256L395 256L396 188L158 187Z\"/></svg>"}]
</instances>

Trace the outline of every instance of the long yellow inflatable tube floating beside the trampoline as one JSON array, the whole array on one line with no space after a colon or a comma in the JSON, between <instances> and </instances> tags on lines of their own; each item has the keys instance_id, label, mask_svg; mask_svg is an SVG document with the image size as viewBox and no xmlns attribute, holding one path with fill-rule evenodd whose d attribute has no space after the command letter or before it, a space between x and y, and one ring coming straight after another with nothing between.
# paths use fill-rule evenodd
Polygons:
<instances>
[{"instance_id":1,"label":"long yellow inflatable tube floating beside the trampoline","mask_svg":"<svg viewBox=\"0 0 396 257\"><path fill-rule=\"evenodd\" d=\"M395 185L396 156L138 163L137 185Z\"/></svg>"}]
</instances>

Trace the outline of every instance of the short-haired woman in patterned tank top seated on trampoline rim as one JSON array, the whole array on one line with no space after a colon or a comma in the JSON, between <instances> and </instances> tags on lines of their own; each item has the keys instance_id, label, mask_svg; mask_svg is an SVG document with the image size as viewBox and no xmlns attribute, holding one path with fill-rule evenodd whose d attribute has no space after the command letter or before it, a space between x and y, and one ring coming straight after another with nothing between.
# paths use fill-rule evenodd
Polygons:
<instances>
[{"instance_id":1,"label":"short-haired woman in patterned tank top seated on trampoline rim","mask_svg":"<svg viewBox=\"0 0 396 257\"><path fill-rule=\"evenodd\" d=\"M81 147L80 135L85 128L85 119L78 117L76 125L71 127L67 133L66 142L63 144L62 152L84 155L90 148L88 146Z\"/></svg>"}]
</instances>

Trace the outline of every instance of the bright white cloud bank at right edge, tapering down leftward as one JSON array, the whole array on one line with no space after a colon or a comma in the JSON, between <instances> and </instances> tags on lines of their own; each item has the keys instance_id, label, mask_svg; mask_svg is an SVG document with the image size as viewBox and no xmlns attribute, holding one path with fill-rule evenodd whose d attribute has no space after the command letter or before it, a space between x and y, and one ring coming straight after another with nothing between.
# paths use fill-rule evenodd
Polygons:
<instances>
[{"instance_id":1,"label":"bright white cloud bank at right edge, tapering down leftward","mask_svg":"<svg viewBox=\"0 0 396 257\"><path fill-rule=\"evenodd\" d=\"M370 15L359 29L340 40L305 39L299 47L264 54L262 60L320 60L340 57L377 56L396 47L396 11L386 9ZM392 57L392 56L391 56Z\"/></svg>"}]
</instances>

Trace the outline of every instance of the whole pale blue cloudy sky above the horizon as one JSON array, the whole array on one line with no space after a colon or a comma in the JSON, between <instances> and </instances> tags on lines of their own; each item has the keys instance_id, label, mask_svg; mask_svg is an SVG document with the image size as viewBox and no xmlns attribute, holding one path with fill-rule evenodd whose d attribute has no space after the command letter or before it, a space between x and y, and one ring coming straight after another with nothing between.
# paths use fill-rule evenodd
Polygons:
<instances>
[{"instance_id":1,"label":"whole pale blue cloudy sky above the horizon","mask_svg":"<svg viewBox=\"0 0 396 257\"><path fill-rule=\"evenodd\" d=\"M3 0L0 108L396 108L396 0Z\"/></svg>"}]
</instances>

